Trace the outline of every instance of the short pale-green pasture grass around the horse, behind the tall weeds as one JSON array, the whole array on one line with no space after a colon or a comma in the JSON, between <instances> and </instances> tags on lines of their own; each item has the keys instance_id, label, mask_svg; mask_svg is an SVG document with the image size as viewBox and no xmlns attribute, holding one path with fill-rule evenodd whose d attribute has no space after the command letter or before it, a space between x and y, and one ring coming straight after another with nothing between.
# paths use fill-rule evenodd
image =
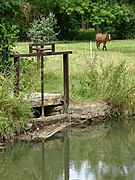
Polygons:
<instances>
[{"instance_id":1,"label":"short pale-green pasture grass around the horse, behind the tall weeds","mask_svg":"<svg viewBox=\"0 0 135 180\"><path fill-rule=\"evenodd\" d=\"M29 43L18 43L17 51L19 53L28 53ZM69 55L69 74L70 77L78 76L87 71L91 61L99 66L113 67L126 61L127 67L132 73L135 71L135 40L112 40L107 43L107 51L97 50L95 42L92 43L92 56L90 59L90 42L56 42L56 51L71 50L73 54ZM102 49L102 45L101 45ZM35 59L36 62L36 59ZM45 58L45 90L47 92L63 92L62 85L63 64L62 56L49 56ZM37 75L39 79L40 72ZM70 79L70 82L72 78ZM37 83L37 82L36 82ZM73 82L76 83L76 82ZM71 85L71 84L70 84ZM40 91L40 85L36 87Z\"/></svg>"}]
</instances>

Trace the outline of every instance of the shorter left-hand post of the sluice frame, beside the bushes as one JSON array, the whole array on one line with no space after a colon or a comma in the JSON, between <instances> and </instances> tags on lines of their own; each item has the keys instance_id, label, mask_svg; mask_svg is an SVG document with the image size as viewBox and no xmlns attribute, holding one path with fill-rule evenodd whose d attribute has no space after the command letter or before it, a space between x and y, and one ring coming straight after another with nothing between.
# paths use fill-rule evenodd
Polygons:
<instances>
[{"instance_id":1,"label":"shorter left-hand post of the sluice frame, beside the bushes","mask_svg":"<svg viewBox=\"0 0 135 180\"><path fill-rule=\"evenodd\" d=\"M14 95L18 95L19 94L19 79L20 79L19 57L14 57L14 68L15 68Z\"/></svg>"}]
</instances>

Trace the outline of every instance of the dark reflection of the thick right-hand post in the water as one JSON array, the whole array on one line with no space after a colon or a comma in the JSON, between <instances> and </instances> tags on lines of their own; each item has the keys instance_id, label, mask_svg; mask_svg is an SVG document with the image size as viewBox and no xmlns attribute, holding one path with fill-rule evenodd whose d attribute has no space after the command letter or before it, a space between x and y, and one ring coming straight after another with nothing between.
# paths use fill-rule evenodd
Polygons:
<instances>
[{"instance_id":1,"label":"dark reflection of the thick right-hand post in the water","mask_svg":"<svg viewBox=\"0 0 135 180\"><path fill-rule=\"evenodd\" d=\"M66 133L65 135L65 142L64 142L64 165L65 165L65 180L69 180L69 136Z\"/></svg>"}]
</instances>

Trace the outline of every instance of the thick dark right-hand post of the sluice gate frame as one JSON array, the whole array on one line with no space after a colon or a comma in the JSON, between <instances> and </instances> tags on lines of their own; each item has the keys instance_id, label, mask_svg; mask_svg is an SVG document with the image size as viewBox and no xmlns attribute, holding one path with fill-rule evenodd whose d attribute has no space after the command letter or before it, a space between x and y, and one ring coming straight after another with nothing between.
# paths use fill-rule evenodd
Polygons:
<instances>
[{"instance_id":1,"label":"thick dark right-hand post of the sluice gate frame","mask_svg":"<svg viewBox=\"0 0 135 180\"><path fill-rule=\"evenodd\" d=\"M69 106L69 75L68 75L68 54L63 54L64 69L64 112L68 112Z\"/></svg>"}]
</instances>

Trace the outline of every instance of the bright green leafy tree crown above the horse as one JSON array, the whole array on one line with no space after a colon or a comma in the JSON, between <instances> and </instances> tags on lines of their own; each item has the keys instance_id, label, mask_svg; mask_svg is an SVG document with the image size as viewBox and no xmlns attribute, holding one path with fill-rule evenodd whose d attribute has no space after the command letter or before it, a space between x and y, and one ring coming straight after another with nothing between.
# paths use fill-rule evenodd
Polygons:
<instances>
[{"instance_id":1,"label":"bright green leafy tree crown above the horse","mask_svg":"<svg viewBox=\"0 0 135 180\"><path fill-rule=\"evenodd\" d=\"M121 24L121 22L129 22L129 11L123 5L117 3L110 5L107 1L99 1L91 4L90 22L93 26L98 26L104 30L114 24Z\"/></svg>"}]
</instances>

